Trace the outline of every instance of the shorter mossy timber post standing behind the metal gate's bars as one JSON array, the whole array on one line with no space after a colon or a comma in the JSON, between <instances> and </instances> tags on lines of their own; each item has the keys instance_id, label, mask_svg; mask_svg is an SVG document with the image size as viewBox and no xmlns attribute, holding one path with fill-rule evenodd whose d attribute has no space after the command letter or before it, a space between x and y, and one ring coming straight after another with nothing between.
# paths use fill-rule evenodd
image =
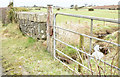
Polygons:
<instances>
[{"instance_id":1,"label":"shorter mossy timber post standing behind the metal gate's bars","mask_svg":"<svg viewBox=\"0 0 120 77\"><path fill-rule=\"evenodd\" d=\"M84 36L80 35L80 42L79 42L79 48L80 50L83 49L83 45L84 45ZM83 53L79 52L81 58L83 59ZM82 60L81 58L78 58L78 61L82 64ZM81 65L78 65L78 72L81 72L82 70L82 66Z\"/></svg>"}]
</instances>

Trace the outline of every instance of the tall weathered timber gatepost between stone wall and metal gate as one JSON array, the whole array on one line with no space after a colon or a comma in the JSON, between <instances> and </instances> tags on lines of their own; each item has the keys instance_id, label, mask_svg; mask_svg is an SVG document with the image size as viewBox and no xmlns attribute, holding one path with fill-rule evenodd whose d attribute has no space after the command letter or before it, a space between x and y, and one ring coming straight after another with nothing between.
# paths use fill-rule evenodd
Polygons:
<instances>
[{"instance_id":1,"label":"tall weathered timber gatepost between stone wall and metal gate","mask_svg":"<svg viewBox=\"0 0 120 77\"><path fill-rule=\"evenodd\" d=\"M53 55L53 6L47 5L47 50Z\"/></svg>"}]
</instances>

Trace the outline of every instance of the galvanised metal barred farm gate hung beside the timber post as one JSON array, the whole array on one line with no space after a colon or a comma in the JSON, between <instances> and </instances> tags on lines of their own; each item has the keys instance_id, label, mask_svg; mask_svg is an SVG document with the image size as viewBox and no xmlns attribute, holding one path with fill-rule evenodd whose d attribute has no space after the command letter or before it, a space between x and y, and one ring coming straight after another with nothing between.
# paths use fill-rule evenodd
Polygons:
<instances>
[{"instance_id":1,"label":"galvanised metal barred farm gate hung beside the timber post","mask_svg":"<svg viewBox=\"0 0 120 77\"><path fill-rule=\"evenodd\" d=\"M62 27L60 27L60 26L57 26L57 25L56 25L56 17L57 17L57 15L64 15L64 16L72 16L72 17L90 19L90 20L91 20L90 36L89 36L89 35L86 35L86 34L78 33L78 32L76 32L76 31L72 31L72 30L69 30L69 29L62 28ZM96 59L96 58L93 57L92 55L90 55L90 53L91 53L91 48L92 48L92 46L91 46L91 45L92 45L92 39L99 40L99 41L106 42L106 43L109 43L109 44L112 44L112 45L115 45L115 46L120 47L120 44L117 44L117 43L114 43L114 42L111 42L111 41L107 41L107 40L103 40L103 39L99 39L99 38L93 37L93 36L92 36L92 35L93 35L93 20L105 21L105 22L112 22L112 23L120 24L120 22L119 22L118 20L116 20L116 19L93 17L93 16L85 16L85 15L73 15L73 14L67 14L67 13L56 13L56 14L54 14L54 25L53 25L53 41L54 41L54 42L53 42L53 47L54 47L53 50L54 50L54 58L57 59L57 60L59 60L59 59L57 58L57 56L56 56L56 52L59 52L59 53L61 53L62 55L68 57L70 60L76 62L77 64L80 64L82 67L86 68L87 70L92 71L90 68L87 68L86 66L82 65L81 63L79 63L79 62L77 62L76 60L74 60L74 59L72 59L71 57L69 57L68 55L64 54L62 51L56 49L56 41L59 41L60 43L66 45L66 46L69 46L69 47L75 49L76 51L79 51L79 52L82 52L83 54L86 54L87 56L89 56L89 58L92 57L92 58L94 58L94 59ZM79 50L78 48L73 47L72 45L69 45L69 44L61 41L60 39L57 39L57 38L56 38L56 34L57 34L56 28L57 28L57 29L64 30L64 31L68 31L68 32L71 32L71 33L74 33L74 34L77 34L77 35L81 35L81 36L84 36L84 37L87 37L87 38L90 38L90 50L89 50L89 54L86 53L85 51ZM100 61L100 62L102 62L102 63L104 63L104 64L106 64L106 65L108 65L108 66L110 66L111 68L114 68L114 69L117 69L118 71L120 71L120 68L117 67L117 66L111 65L111 64L109 64L109 63L107 63L107 62L105 62L105 61L103 61L103 60L100 60L100 59L97 59L97 60ZM60 61L60 60L59 60L59 61ZM61 61L60 61L60 62L61 62ZM64 64L63 62L61 62L61 63ZM64 64L64 65L67 66L66 64ZM69 67L69 66L67 66L67 67ZM69 68L69 69L71 69L71 68ZM72 69L72 71L73 71L73 69ZM75 71L75 70L74 70L74 71ZM92 72L93 72L93 71L92 71Z\"/></svg>"}]
</instances>

